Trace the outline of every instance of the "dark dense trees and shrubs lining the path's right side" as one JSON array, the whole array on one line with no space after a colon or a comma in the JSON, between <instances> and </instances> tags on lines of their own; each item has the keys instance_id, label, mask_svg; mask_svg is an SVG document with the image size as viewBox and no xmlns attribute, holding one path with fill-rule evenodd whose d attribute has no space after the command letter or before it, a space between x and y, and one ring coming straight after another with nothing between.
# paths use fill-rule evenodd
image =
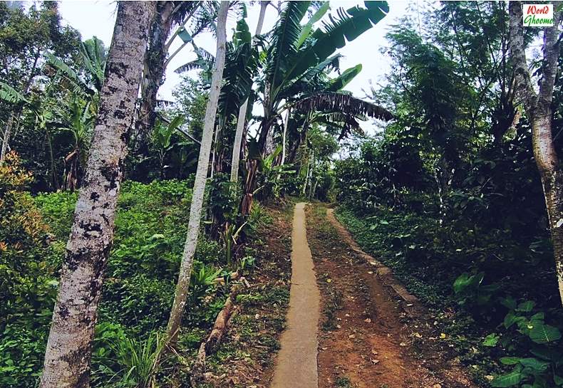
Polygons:
<instances>
[{"instance_id":1,"label":"dark dense trees and shrubs lining the path's right side","mask_svg":"<svg viewBox=\"0 0 563 388\"><path fill-rule=\"evenodd\" d=\"M388 33L396 73L372 92L396 120L336 162L339 218L426 303L453 308L444 325L483 384L559 386L563 310L532 133L501 58L504 4L424 18L439 21L427 35L408 19Z\"/></svg>"}]
</instances>

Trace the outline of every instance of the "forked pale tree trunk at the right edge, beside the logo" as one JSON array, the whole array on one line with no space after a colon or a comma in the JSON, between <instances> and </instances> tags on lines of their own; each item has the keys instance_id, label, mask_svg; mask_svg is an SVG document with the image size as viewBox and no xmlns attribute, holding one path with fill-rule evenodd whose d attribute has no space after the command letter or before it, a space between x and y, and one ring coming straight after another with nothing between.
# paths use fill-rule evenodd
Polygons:
<instances>
[{"instance_id":1,"label":"forked pale tree trunk at the right edge, beside the logo","mask_svg":"<svg viewBox=\"0 0 563 388\"><path fill-rule=\"evenodd\" d=\"M517 93L522 97L528 120L532 122L532 142L537 169L542 178L545 206L549 218L549 231L559 296L563 303L563 170L552 137L552 98L557 58L559 56L559 11L553 6L553 27L544 28L542 80L539 93L534 91L528 70L522 26L522 4L510 1L510 58L514 64Z\"/></svg>"}]
</instances>

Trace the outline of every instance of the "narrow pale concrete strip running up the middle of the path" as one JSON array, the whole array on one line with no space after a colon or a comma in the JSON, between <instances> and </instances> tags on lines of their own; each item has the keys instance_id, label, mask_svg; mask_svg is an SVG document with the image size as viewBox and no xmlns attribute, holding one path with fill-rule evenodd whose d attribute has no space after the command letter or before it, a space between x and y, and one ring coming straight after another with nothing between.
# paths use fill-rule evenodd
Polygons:
<instances>
[{"instance_id":1,"label":"narrow pale concrete strip running up the middle of the path","mask_svg":"<svg viewBox=\"0 0 563 388\"><path fill-rule=\"evenodd\" d=\"M291 291L286 330L272 388L316 388L320 293L307 243L305 204L295 206L291 234Z\"/></svg>"}]
</instances>

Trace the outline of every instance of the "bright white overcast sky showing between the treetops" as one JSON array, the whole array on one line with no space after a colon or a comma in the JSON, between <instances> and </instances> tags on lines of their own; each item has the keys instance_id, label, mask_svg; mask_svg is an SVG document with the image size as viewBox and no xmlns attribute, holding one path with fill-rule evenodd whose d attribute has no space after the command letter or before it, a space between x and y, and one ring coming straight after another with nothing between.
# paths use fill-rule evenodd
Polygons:
<instances>
[{"instance_id":1,"label":"bright white overcast sky showing between the treetops","mask_svg":"<svg viewBox=\"0 0 563 388\"><path fill-rule=\"evenodd\" d=\"M339 7L348 9L356 4L363 6L363 1L331 1L330 3L331 12L335 12ZM344 56L341 60L342 70L355 66L358 63L363 65L361 73L346 87L347 90L353 92L357 97L364 96L362 89L369 89L370 80L373 83L377 83L381 80L382 75L390 70L389 60L380 53L380 48L386 46L384 35L389 26L396 23L397 19L405 14L407 5L407 1L389 1L389 14L376 26L363 33L355 41L347 43L341 49L340 53ZM60 11L63 21L78 29L82 34L83 40L97 36L109 47L113 33L113 24L115 23L116 6L115 1L61 1ZM248 4L247 23L252 33L256 29L258 14L258 2L254 6ZM277 17L276 9L269 6L262 31L269 31L277 21ZM232 13L227 21L229 38L232 36L235 23L236 16ZM215 53L215 39L211 33L197 36L195 41L198 46L205 48L211 53ZM174 51L180 46L180 42L180 38L177 38L172 44L171 50ZM160 99L172 99L172 89L180 81L180 75L174 73L174 70L193 59L195 59L195 54L192 53L191 46L188 45L171 61L166 70L165 83L159 90Z\"/></svg>"}]
</instances>

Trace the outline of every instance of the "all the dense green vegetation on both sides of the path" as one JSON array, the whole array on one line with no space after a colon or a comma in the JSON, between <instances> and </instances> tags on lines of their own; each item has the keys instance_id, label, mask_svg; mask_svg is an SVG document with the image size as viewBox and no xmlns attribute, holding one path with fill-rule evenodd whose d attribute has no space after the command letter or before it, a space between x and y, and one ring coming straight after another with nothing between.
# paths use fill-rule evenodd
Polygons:
<instances>
[{"instance_id":1,"label":"all the dense green vegetation on both sides of the path","mask_svg":"<svg viewBox=\"0 0 563 388\"><path fill-rule=\"evenodd\" d=\"M216 4L202 3L190 31L215 28ZM332 13L328 2L278 6L272 30L254 37L246 5L232 10L237 24L227 43L204 233L177 350L195 354L232 271L257 264L260 255L244 243L271 220L252 201L294 195L339 203L337 216L358 243L434 309L480 385L563 387L563 309L532 129L515 90L506 4L443 2L422 12L424 23L406 16L392 26L383 49L392 71L368 92L372 102L344 88L375 64L341 70L339 49L383 19L386 2ZM179 31L197 58L176 71L198 73L176 85L174 102L150 112L146 144L130 141L98 308L93 387L152 387L171 378L162 370L173 362L156 355L165 346L215 62L187 29ZM538 31L527 28L528 49ZM83 41L63 26L56 3L0 4L0 122L11 150L0 164L2 387L35 387L41 372L107 53L98 38ZM534 61L532 70L536 82L543 69ZM552 103L558 154L562 85L559 71ZM239 180L230 182L247 99ZM360 122L373 118L390 123L376 122L365 135ZM256 308L286 299L280 285L237 301ZM238 319L243 337L257 341L251 318ZM273 332L263 340L277 350Z\"/></svg>"}]
</instances>

